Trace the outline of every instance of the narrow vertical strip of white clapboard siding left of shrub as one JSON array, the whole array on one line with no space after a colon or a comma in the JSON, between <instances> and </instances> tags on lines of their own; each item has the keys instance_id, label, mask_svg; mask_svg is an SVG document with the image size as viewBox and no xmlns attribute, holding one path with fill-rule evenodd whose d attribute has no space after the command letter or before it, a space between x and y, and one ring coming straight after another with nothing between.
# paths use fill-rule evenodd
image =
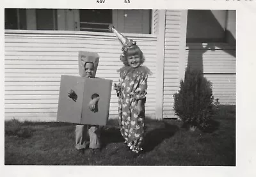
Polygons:
<instances>
[{"instance_id":1,"label":"narrow vertical strip of white clapboard siding left of shrub","mask_svg":"<svg viewBox=\"0 0 256 177\"><path fill-rule=\"evenodd\" d=\"M179 89L181 10L166 10L163 118L176 118L173 94Z\"/></svg>"}]
</instances>

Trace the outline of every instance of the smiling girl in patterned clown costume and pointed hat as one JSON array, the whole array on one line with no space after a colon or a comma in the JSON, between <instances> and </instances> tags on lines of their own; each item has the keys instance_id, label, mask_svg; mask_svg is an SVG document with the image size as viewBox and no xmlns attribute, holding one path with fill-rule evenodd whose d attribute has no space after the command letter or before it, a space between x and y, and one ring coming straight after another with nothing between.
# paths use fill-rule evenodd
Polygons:
<instances>
[{"instance_id":1,"label":"smiling girl in patterned clown costume and pointed hat","mask_svg":"<svg viewBox=\"0 0 256 177\"><path fill-rule=\"evenodd\" d=\"M120 132L130 150L139 153L144 138L147 79L151 72L141 66L145 58L136 42L128 40L112 26L109 29L118 37L123 52L120 60L124 66L118 70L120 78L115 84Z\"/></svg>"}]
</instances>

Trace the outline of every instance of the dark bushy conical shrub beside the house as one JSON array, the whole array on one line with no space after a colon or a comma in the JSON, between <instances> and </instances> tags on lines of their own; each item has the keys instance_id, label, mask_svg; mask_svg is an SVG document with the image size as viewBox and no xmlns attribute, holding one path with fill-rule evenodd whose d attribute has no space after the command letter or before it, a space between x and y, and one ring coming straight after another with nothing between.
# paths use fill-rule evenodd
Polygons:
<instances>
[{"instance_id":1,"label":"dark bushy conical shrub beside the house","mask_svg":"<svg viewBox=\"0 0 256 177\"><path fill-rule=\"evenodd\" d=\"M209 127L214 114L214 96L212 83L207 81L199 70L186 68L184 81L180 81L180 89L174 97L174 111L183 121L184 126Z\"/></svg>"}]
</instances>

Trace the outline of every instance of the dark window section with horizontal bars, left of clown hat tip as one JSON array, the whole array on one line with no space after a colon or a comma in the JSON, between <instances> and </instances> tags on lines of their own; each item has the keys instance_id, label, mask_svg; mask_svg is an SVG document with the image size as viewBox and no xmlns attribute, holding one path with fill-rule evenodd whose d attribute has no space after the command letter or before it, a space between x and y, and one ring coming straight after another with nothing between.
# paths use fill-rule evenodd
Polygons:
<instances>
[{"instance_id":1,"label":"dark window section with horizontal bars, left of clown hat tip","mask_svg":"<svg viewBox=\"0 0 256 177\"><path fill-rule=\"evenodd\" d=\"M79 10L80 31L109 32L112 10Z\"/></svg>"}]
</instances>

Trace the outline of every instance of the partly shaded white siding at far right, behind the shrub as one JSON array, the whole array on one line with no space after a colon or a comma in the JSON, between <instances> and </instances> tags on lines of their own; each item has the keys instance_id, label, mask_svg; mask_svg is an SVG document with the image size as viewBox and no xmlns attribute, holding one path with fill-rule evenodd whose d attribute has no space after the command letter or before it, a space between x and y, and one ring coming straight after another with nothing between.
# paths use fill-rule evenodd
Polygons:
<instances>
[{"instance_id":1,"label":"partly shaded white siding at far right, behind the shrub","mask_svg":"<svg viewBox=\"0 0 256 177\"><path fill-rule=\"evenodd\" d=\"M236 46L228 43L186 45L186 66L204 72L220 104L236 104Z\"/></svg>"}]
</instances>

